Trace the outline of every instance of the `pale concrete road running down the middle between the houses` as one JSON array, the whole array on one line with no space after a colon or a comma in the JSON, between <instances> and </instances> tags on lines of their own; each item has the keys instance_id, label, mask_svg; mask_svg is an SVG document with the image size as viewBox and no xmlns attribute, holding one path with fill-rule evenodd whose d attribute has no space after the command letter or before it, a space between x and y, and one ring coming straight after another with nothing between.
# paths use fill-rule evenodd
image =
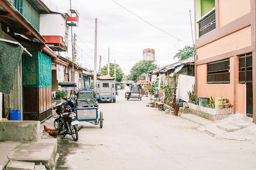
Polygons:
<instances>
[{"instance_id":1,"label":"pale concrete road running down the middle between the houses","mask_svg":"<svg viewBox=\"0 0 256 170\"><path fill-rule=\"evenodd\" d=\"M103 102L103 128L88 122L77 142L58 139L57 170L234 170L255 169L256 147L250 141L220 140L181 117L146 107L148 97Z\"/></svg>"}]
</instances>

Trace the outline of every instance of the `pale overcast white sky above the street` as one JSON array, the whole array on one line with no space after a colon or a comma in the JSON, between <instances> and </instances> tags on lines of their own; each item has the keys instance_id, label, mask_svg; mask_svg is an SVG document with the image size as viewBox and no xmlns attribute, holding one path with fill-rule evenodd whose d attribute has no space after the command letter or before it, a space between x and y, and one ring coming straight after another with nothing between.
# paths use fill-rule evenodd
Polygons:
<instances>
[{"instance_id":1,"label":"pale overcast white sky above the street","mask_svg":"<svg viewBox=\"0 0 256 170\"><path fill-rule=\"evenodd\" d=\"M58 7L70 7L69 0L51 0ZM71 0L71 8L79 13L76 34L78 64L93 70L95 18L97 18L97 69L109 60L119 64L128 75L133 65L143 60L143 49L155 50L155 64L159 67L177 62L173 56L185 45L192 46L194 37L193 0ZM129 12L130 11L130 12ZM71 57L71 29L69 50L63 57Z\"/></svg>"}]
</instances>

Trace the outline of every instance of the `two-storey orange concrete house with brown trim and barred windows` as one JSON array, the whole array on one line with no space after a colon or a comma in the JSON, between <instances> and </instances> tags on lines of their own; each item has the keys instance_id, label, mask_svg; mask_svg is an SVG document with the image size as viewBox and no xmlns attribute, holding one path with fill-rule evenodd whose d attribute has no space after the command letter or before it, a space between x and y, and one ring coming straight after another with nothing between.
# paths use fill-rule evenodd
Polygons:
<instances>
[{"instance_id":1,"label":"two-storey orange concrete house with brown trim and barred windows","mask_svg":"<svg viewBox=\"0 0 256 170\"><path fill-rule=\"evenodd\" d=\"M256 123L254 0L194 0L195 93L226 97Z\"/></svg>"}]
</instances>

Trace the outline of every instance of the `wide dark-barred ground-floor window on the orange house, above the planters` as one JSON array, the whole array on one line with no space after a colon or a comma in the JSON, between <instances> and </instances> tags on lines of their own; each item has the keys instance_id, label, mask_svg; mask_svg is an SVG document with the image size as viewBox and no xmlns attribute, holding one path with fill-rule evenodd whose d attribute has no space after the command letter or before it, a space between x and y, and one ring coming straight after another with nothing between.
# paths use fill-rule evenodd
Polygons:
<instances>
[{"instance_id":1,"label":"wide dark-barred ground-floor window on the orange house, above the planters","mask_svg":"<svg viewBox=\"0 0 256 170\"><path fill-rule=\"evenodd\" d=\"M208 63L207 83L230 83L229 63L229 59Z\"/></svg>"}]
</instances>

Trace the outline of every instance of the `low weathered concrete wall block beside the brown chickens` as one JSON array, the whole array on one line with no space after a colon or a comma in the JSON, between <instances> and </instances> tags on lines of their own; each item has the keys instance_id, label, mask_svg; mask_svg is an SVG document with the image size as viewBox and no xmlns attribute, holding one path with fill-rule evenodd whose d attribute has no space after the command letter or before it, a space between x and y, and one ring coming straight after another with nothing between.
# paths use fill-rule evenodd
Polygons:
<instances>
[{"instance_id":1,"label":"low weathered concrete wall block beside the brown chickens","mask_svg":"<svg viewBox=\"0 0 256 170\"><path fill-rule=\"evenodd\" d=\"M40 121L0 120L0 141L38 141Z\"/></svg>"}]
</instances>

